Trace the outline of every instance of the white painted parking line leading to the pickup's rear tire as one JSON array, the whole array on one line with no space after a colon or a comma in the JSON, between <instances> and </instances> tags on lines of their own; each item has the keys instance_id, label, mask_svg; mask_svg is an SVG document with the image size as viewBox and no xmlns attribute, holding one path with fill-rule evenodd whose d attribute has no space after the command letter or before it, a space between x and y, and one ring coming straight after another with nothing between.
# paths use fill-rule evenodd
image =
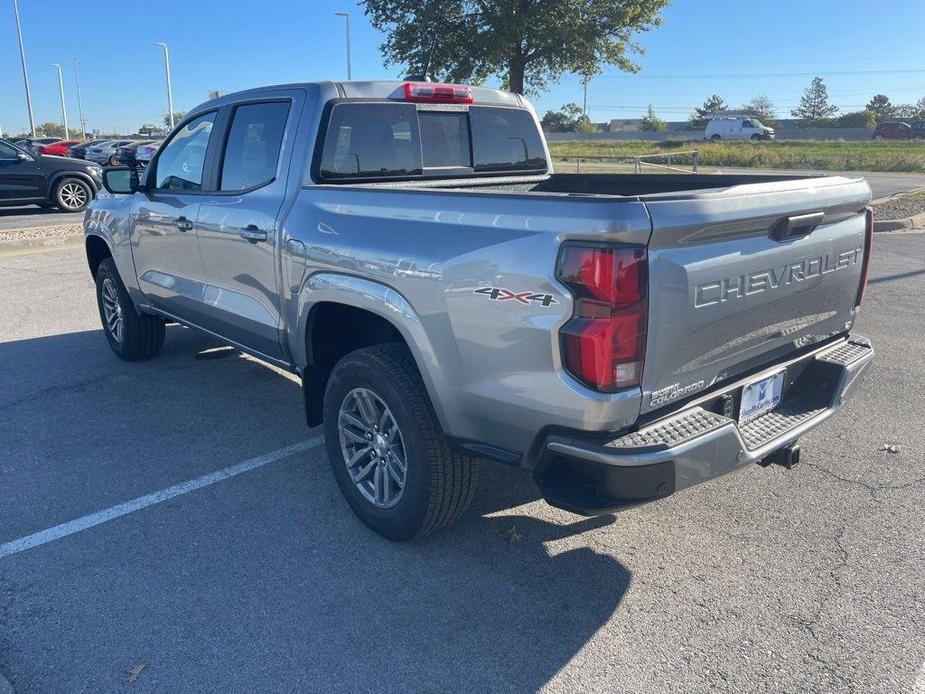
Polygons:
<instances>
[{"instance_id":1,"label":"white painted parking line leading to the pickup's rear tire","mask_svg":"<svg viewBox=\"0 0 925 694\"><path fill-rule=\"evenodd\" d=\"M175 484L172 487L167 487L166 489L161 489L160 491L153 492L151 494L146 494L145 496L140 496L137 499L132 499L131 501L126 501L121 504L116 504L115 506L110 506L107 509L102 511L97 511L96 513L91 513L87 516L81 516L66 523L61 523L61 525L56 525L53 528L48 528L47 530L41 530L32 535L26 535L17 540L11 540L0 545L0 559L7 557L11 554L17 554L19 552L24 552L27 549L32 549L33 547L39 547L41 545L47 544L49 542L54 542L55 540L60 540L62 537L67 537L68 535L73 535L78 533L81 530L86 530L87 528L92 528L93 526L100 525L107 521L111 521L114 518L119 518L120 516L125 516L129 513L135 511L140 511L143 508L148 506L154 506L168 499L173 499L174 497L180 496L182 494L188 494L189 492L196 491L197 489L202 489L203 487L208 487L211 484L216 482L221 482L222 480L227 480L230 477L235 475L240 475L242 472L248 472L250 470L256 470L259 467L264 465L269 465L270 463L275 463L277 460L282 460L283 458L288 458L294 453L301 453L307 451L310 448L320 445L324 441L323 436L314 436L305 441L300 441L299 443L294 443L291 446L286 446L285 448L280 448L278 451L273 451L271 453L265 453L264 455L258 456L256 458L251 458L250 460L244 460L235 465L230 465L229 467L223 468L221 470L216 470L215 472L210 472L207 475L202 477L196 477L186 482L180 482Z\"/></svg>"}]
</instances>

